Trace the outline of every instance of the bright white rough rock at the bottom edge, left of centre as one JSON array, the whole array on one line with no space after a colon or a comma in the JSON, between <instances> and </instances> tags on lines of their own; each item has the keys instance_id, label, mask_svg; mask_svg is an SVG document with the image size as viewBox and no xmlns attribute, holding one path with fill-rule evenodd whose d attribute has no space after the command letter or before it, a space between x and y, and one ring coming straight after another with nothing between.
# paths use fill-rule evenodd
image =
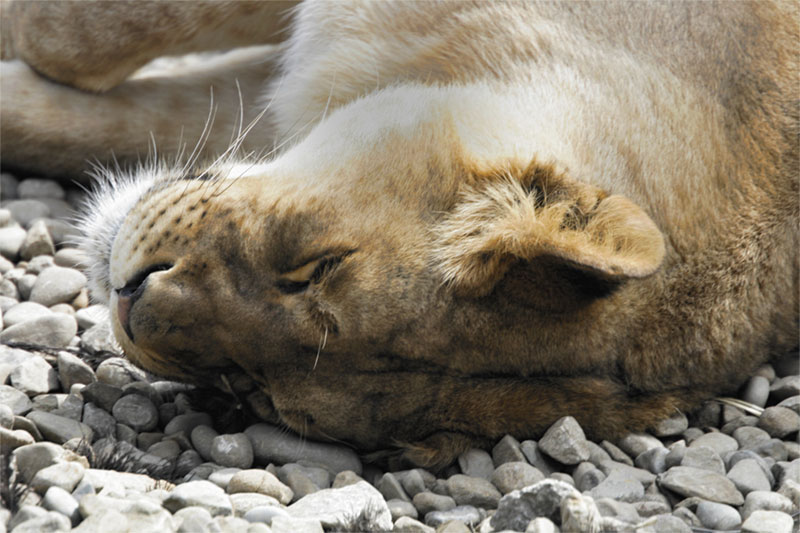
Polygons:
<instances>
[{"instance_id":1,"label":"bright white rough rock at the bottom edge, left of centre","mask_svg":"<svg viewBox=\"0 0 800 533\"><path fill-rule=\"evenodd\" d=\"M309 494L290 505L288 511L295 518L315 518L327 529L346 528L351 523L365 530L392 528L392 515L383 496L365 481Z\"/></svg>"}]
</instances>

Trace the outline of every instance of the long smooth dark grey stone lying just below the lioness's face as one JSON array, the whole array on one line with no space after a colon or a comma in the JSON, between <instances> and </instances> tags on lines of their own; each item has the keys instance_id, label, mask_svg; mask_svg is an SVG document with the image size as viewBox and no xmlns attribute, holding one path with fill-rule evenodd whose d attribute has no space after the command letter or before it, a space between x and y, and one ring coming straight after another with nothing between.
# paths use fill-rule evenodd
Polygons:
<instances>
[{"instance_id":1,"label":"long smooth dark grey stone lying just below the lioness's face","mask_svg":"<svg viewBox=\"0 0 800 533\"><path fill-rule=\"evenodd\" d=\"M210 425L210 420L206 425ZM328 468L332 473L352 470L362 472L361 460L345 446L304 440L268 424L254 424L245 430L253 445L256 462L286 464L302 460Z\"/></svg>"}]
</instances>

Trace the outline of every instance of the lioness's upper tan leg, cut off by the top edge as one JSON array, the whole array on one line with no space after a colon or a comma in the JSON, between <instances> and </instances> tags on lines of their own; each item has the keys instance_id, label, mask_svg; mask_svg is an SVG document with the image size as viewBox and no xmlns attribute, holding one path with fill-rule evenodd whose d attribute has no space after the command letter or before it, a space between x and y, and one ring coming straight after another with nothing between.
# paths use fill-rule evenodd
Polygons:
<instances>
[{"instance_id":1,"label":"lioness's upper tan leg, cut off by the top edge","mask_svg":"<svg viewBox=\"0 0 800 533\"><path fill-rule=\"evenodd\" d=\"M106 91L156 57L280 42L295 3L4 1L2 58Z\"/></svg>"}]
</instances>

